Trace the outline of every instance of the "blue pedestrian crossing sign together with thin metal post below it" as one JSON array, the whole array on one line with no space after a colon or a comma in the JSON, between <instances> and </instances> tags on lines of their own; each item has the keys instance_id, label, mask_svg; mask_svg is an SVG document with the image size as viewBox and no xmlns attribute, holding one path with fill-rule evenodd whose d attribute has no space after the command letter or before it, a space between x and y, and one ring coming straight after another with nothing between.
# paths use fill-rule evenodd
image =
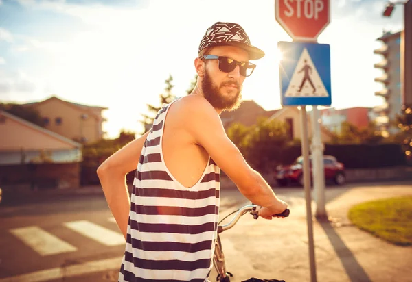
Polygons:
<instances>
[{"instance_id":1,"label":"blue pedestrian crossing sign together with thin metal post below it","mask_svg":"<svg viewBox=\"0 0 412 282\"><path fill-rule=\"evenodd\" d=\"M328 44L307 42L278 42L277 45L279 51L283 54L279 64L282 105L301 106L301 151L304 157L303 176L306 198L306 218L308 222L310 281L315 282L317 281L317 274L316 260L314 257L308 116L306 105L331 104L330 46ZM316 128L317 127L314 127L314 134L316 134ZM320 139L320 129L318 134ZM319 157L317 159L319 163ZM323 164L322 155L321 162ZM322 166L317 166L317 168L319 167ZM316 177L323 177L319 169L317 169ZM319 191L319 193L321 193L321 191Z\"/></svg>"}]
</instances>

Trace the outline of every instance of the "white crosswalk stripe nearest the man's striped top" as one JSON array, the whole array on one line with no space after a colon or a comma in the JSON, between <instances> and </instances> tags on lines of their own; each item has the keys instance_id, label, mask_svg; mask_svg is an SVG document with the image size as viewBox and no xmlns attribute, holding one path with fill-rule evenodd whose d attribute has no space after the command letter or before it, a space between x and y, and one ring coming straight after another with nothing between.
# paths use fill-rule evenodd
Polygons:
<instances>
[{"instance_id":1,"label":"white crosswalk stripe nearest the man's striped top","mask_svg":"<svg viewBox=\"0 0 412 282\"><path fill-rule=\"evenodd\" d=\"M122 233L112 231L87 220L64 222L63 225L105 246L119 246L126 244Z\"/></svg>"}]
</instances>

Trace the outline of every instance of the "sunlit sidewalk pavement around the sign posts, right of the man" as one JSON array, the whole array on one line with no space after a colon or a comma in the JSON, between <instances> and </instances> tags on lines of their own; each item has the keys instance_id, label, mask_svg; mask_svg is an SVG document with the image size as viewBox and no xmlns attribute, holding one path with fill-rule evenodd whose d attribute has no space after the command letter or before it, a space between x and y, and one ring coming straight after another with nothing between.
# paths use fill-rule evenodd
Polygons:
<instances>
[{"instance_id":1,"label":"sunlit sidewalk pavement around the sign posts, right of the man","mask_svg":"<svg viewBox=\"0 0 412 282\"><path fill-rule=\"evenodd\" d=\"M304 192L287 195L278 191L289 203L289 218L253 220L245 216L220 235L233 281L251 277L310 281ZM326 209L333 221L313 221L317 281L412 281L412 247L389 244L361 231L347 218L347 211L357 203L404 195L412 195L412 185L359 185L327 191ZM213 272L210 278L215 277Z\"/></svg>"}]
</instances>

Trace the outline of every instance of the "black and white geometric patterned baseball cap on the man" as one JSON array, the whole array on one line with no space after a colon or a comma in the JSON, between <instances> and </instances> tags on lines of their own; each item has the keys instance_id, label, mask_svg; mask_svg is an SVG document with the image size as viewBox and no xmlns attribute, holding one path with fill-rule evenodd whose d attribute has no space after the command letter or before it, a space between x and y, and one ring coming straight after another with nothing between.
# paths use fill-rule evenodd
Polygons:
<instances>
[{"instance_id":1,"label":"black and white geometric patterned baseball cap on the man","mask_svg":"<svg viewBox=\"0 0 412 282\"><path fill-rule=\"evenodd\" d=\"M264 57L264 51L254 47L246 31L237 23L217 22L211 25L199 44L199 53L206 47L230 45L244 49L249 53L249 60Z\"/></svg>"}]
</instances>

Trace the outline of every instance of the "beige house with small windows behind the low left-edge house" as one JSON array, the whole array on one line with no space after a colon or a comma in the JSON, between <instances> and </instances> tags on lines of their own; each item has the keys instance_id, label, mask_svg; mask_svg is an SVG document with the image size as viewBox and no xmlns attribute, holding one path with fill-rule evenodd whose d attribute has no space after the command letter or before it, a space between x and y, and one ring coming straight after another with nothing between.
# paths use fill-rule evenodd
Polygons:
<instances>
[{"instance_id":1,"label":"beige house with small windows behind the low left-edge house","mask_svg":"<svg viewBox=\"0 0 412 282\"><path fill-rule=\"evenodd\" d=\"M83 144L101 140L104 136L102 110L107 107L89 106L62 100L56 96L41 102L24 104L38 110L45 128Z\"/></svg>"}]
</instances>

